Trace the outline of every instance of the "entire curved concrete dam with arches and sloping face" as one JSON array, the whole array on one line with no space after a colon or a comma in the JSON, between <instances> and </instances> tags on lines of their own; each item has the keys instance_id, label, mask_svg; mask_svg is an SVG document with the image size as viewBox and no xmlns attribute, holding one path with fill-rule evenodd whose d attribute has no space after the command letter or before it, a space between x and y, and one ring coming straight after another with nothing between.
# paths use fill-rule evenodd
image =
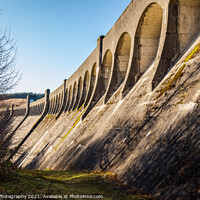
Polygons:
<instances>
[{"instance_id":1,"label":"entire curved concrete dam with arches and sloping face","mask_svg":"<svg viewBox=\"0 0 200 200\"><path fill-rule=\"evenodd\" d=\"M18 167L112 171L198 199L199 105L200 0L133 0L60 87L10 109L5 143Z\"/></svg>"}]
</instances>

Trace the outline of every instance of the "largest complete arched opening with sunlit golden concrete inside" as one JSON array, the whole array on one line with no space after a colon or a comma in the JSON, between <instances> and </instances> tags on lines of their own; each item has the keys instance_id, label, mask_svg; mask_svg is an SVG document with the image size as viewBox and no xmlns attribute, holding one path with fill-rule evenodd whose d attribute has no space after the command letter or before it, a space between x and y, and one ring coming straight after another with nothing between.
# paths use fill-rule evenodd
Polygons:
<instances>
[{"instance_id":1,"label":"largest complete arched opening with sunlit golden concrete inside","mask_svg":"<svg viewBox=\"0 0 200 200\"><path fill-rule=\"evenodd\" d=\"M149 5L138 24L131 70L123 94L126 95L155 60L160 42L163 9L159 4Z\"/></svg>"}]
</instances>

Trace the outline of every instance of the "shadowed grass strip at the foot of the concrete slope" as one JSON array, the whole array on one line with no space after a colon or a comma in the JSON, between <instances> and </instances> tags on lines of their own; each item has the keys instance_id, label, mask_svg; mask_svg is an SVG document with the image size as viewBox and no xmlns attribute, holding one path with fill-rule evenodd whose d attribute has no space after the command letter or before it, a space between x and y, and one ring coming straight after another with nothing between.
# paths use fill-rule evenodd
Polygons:
<instances>
[{"instance_id":1,"label":"shadowed grass strip at the foot of the concrete slope","mask_svg":"<svg viewBox=\"0 0 200 200\"><path fill-rule=\"evenodd\" d=\"M106 200L153 199L140 193L136 195L130 187L120 184L113 173L51 170L21 170L12 181L0 183L0 194L25 195L26 199L77 199L76 195L102 195L98 197L103 198L98 199ZM17 196L13 199L17 199Z\"/></svg>"}]
</instances>

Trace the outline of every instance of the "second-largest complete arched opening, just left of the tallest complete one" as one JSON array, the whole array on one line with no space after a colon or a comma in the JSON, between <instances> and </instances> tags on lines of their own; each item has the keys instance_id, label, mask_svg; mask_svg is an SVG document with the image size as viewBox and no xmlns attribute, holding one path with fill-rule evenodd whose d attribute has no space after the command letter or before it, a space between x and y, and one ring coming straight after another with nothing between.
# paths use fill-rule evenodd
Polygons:
<instances>
[{"instance_id":1,"label":"second-largest complete arched opening, just left of the tallest complete one","mask_svg":"<svg viewBox=\"0 0 200 200\"><path fill-rule=\"evenodd\" d=\"M125 32L121 35L115 51L112 80L106 95L106 102L124 81L129 63L130 48L131 37L127 32Z\"/></svg>"}]
</instances>

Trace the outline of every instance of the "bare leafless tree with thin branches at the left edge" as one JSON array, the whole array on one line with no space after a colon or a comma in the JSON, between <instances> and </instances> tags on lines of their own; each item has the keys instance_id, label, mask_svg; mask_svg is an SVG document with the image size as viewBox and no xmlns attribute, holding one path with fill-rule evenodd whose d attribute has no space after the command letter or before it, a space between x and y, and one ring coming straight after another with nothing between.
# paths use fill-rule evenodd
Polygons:
<instances>
[{"instance_id":1,"label":"bare leafless tree with thin branches at the left edge","mask_svg":"<svg viewBox=\"0 0 200 200\"><path fill-rule=\"evenodd\" d=\"M3 100L6 98L5 94L17 85L19 79L19 70L16 68L16 42L11 39L10 30L0 30L0 161L7 152L4 138L9 132L9 112Z\"/></svg>"}]
</instances>

